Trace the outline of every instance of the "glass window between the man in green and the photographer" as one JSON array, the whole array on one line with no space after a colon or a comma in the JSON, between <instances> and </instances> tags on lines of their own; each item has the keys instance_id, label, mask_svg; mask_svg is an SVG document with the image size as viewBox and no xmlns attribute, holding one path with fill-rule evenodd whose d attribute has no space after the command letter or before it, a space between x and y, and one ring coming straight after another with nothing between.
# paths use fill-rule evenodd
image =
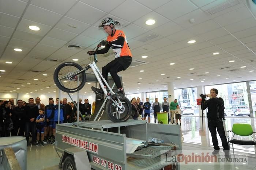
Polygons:
<instances>
[{"instance_id":1,"label":"glass window between the man in green and the photographer","mask_svg":"<svg viewBox=\"0 0 256 170\"><path fill-rule=\"evenodd\" d=\"M175 89L174 97L178 99L183 115L199 115L196 88Z\"/></svg>"}]
</instances>

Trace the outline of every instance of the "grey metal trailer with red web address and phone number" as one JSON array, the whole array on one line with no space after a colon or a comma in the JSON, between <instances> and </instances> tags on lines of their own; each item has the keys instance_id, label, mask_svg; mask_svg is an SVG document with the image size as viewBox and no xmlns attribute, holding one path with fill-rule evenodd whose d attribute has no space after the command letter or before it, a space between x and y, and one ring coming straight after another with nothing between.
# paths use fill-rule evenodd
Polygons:
<instances>
[{"instance_id":1,"label":"grey metal trailer with red web address and phone number","mask_svg":"<svg viewBox=\"0 0 256 170\"><path fill-rule=\"evenodd\" d=\"M148 138L161 138L164 143L147 143L147 147L128 154L126 138L146 142ZM63 170L167 170L173 163L166 163L160 156L163 150L173 155L174 150L182 150L178 125L151 124L145 120L56 124L56 151L62 153L59 168ZM174 164L179 170L179 164Z\"/></svg>"}]
</instances>

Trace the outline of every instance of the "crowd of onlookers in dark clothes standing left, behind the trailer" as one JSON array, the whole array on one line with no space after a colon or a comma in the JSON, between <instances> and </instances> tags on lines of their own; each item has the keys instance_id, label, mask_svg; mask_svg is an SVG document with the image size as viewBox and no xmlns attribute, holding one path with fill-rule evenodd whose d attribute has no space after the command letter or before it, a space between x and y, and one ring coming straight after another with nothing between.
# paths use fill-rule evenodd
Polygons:
<instances>
[{"instance_id":1,"label":"crowd of onlookers in dark clothes standing left, behind the trailer","mask_svg":"<svg viewBox=\"0 0 256 170\"><path fill-rule=\"evenodd\" d=\"M79 103L68 102L67 98L60 101L59 115L59 98L49 98L49 104L41 104L39 97L29 98L28 103L18 100L14 104L14 99L0 100L0 137L7 136L25 136L27 145L30 141L33 145L39 146L46 143L55 143L56 124L72 123L77 121L77 108L81 115L79 119L89 120L95 110L95 102L93 106L86 98L84 104L82 99ZM30 140L31 137L31 140Z\"/></svg>"}]
</instances>

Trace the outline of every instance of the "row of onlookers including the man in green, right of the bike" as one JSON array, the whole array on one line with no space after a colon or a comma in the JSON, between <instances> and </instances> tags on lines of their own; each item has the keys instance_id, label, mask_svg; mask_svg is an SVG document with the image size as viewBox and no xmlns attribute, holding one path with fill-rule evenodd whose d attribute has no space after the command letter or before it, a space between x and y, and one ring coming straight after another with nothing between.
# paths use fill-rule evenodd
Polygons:
<instances>
[{"instance_id":1,"label":"row of onlookers including the man in green, right of the bike","mask_svg":"<svg viewBox=\"0 0 256 170\"><path fill-rule=\"evenodd\" d=\"M132 104L132 118L134 120L138 120L138 117L141 117L142 120L146 120L148 118L148 123L150 123L150 107L151 103L149 102L149 98L146 98L146 102L143 104L140 101L140 98L135 97L131 100ZM160 113L161 110L168 115L168 123L174 123L174 117L176 119L176 124L178 124L178 120L180 121L181 125L181 109L178 105L177 99L172 101L170 104L167 101L167 98L163 98L163 102L159 103L158 98L155 98L155 102L152 104L152 110L154 115L154 123L157 123L157 113ZM143 112L144 111L144 112ZM162 122L158 122L162 123Z\"/></svg>"}]
</instances>

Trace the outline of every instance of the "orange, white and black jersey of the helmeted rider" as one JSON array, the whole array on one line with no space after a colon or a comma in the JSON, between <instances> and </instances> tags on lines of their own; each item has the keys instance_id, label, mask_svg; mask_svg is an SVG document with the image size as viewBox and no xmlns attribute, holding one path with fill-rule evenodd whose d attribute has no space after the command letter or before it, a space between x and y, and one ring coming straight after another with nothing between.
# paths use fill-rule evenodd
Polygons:
<instances>
[{"instance_id":1,"label":"orange, white and black jersey of the helmeted rider","mask_svg":"<svg viewBox=\"0 0 256 170\"><path fill-rule=\"evenodd\" d=\"M132 57L131 50L128 46L128 42L127 42L127 39L126 39L125 34L124 34L123 31L116 30L116 32L113 36L109 35L107 37L107 41L113 42L113 41L117 40L118 36L124 37L124 45L122 47L121 45L116 45L114 43L111 44L111 47L112 47L112 50L114 52L115 58L122 57L122 56L131 56ZM120 48L118 48L118 47L120 47Z\"/></svg>"}]
</instances>

